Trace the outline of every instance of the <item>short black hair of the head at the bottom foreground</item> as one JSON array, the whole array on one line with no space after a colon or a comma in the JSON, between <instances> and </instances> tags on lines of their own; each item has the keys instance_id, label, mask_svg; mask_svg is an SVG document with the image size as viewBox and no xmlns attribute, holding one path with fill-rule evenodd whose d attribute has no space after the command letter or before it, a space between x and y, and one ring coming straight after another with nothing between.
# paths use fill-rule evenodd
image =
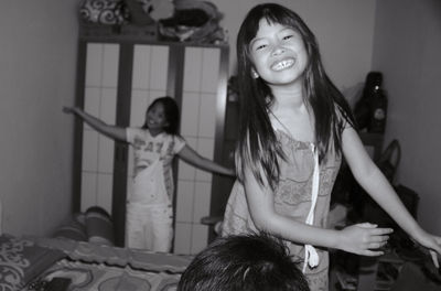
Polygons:
<instances>
[{"instance_id":1,"label":"short black hair of the head at the bottom foreground","mask_svg":"<svg viewBox=\"0 0 441 291\"><path fill-rule=\"evenodd\" d=\"M268 234L214 240L192 260L178 291L309 291L282 240Z\"/></svg>"}]
</instances>

